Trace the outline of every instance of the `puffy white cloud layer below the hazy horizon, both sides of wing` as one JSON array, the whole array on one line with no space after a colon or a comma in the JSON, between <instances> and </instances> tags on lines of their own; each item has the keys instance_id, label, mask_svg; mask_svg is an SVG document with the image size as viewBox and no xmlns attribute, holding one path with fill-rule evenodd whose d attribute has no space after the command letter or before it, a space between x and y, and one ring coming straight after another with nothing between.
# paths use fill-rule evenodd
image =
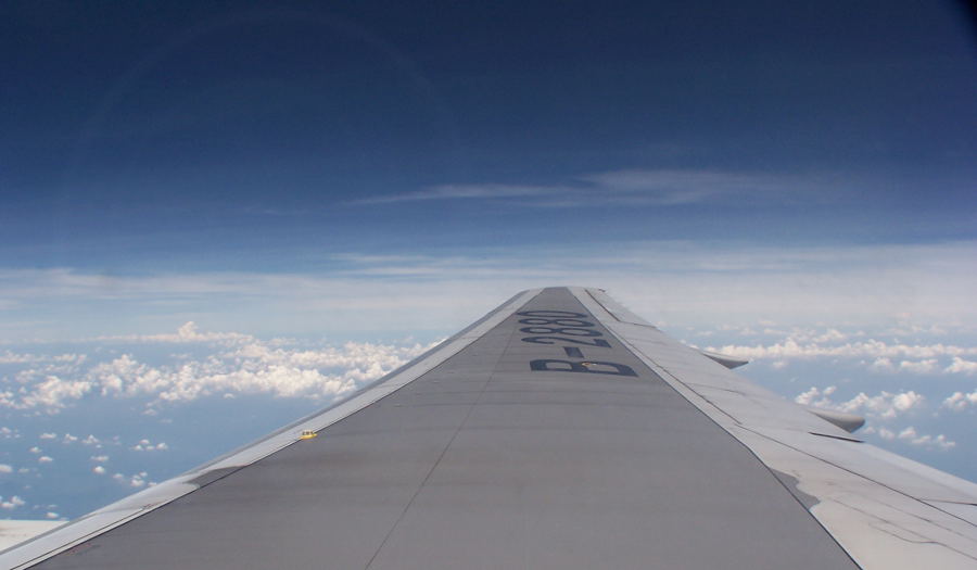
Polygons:
<instances>
[{"instance_id":1,"label":"puffy white cloud layer below the hazy horizon, both sides of wing","mask_svg":"<svg viewBox=\"0 0 977 570\"><path fill-rule=\"evenodd\" d=\"M973 362L977 346L964 342L966 334L953 326L918 325L900 316L884 329L790 326L761 319L751 325L675 330L711 341L752 339L746 344L715 342L711 349L753 359L744 371L747 377L762 380L769 372L777 383L764 385L797 402L864 415L868 423L860 434L874 443L911 456L916 453L914 457L927 463L934 463L932 454L946 457L951 467L954 458L970 453L969 440L961 433L969 431L967 418L977 409L977 390L966 364ZM201 442L191 444L179 432L161 431L166 422L179 423L181 413L198 418L218 406L241 410L256 402L261 402L262 417L276 406L288 409L283 404L288 402L320 407L429 346L414 341L263 340L185 321L173 332L81 339L69 350L43 343L24 351L9 349L0 363L0 416L8 423L0 427L0 440L20 452L0 456L0 494L8 497L0 507L17 517L80 515L244 443L211 442L213 449L188 463L187 454L191 448L200 452ZM814 379L825 373L841 378L832 370L865 376L829 385L807 383L803 375L798 381L804 384L785 382L805 366L814 370ZM881 385L872 387L866 379L879 380ZM938 379L944 379L943 383ZM810 388L798 390L797 385ZM199 404L194 407L194 403ZM129 421L138 428L132 433L94 427L79 432L71 418L92 408L107 414L113 408L129 409ZM296 415L289 413L276 421ZM220 423L226 420L221 418ZM110 420L105 426L102 429L116 430L119 423ZM965 469L956 472L967 473ZM68 496L36 499L60 493L60 473L88 481L102 494L87 495L90 504Z\"/></svg>"}]
</instances>

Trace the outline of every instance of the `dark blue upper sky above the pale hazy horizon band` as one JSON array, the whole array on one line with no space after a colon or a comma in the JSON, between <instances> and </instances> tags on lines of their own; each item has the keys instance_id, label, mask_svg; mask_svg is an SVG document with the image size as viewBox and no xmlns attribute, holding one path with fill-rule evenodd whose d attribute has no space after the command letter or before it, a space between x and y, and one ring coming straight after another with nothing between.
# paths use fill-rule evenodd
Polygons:
<instances>
[{"instance_id":1,"label":"dark blue upper sky above the pale hazy horizon band","mask_svg":"<svg viewBox=\"0 0 977 570\"><path fill-rule=\"evenodd\" d=\"M5 267L974 238L962 4L31 1L0 21Z\"/></svg>"}]
</instances>

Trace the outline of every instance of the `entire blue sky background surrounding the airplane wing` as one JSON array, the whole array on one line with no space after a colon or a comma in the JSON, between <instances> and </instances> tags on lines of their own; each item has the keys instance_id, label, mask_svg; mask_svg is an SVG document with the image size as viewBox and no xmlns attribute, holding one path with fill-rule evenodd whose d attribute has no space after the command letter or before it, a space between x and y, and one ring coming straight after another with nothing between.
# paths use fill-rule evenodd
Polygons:
<instances>
[{"instance_id":1,"label":"entire blue sky background surrounding the airplane wing","mask_svg":"<svg viewBox=\"0 0 977 570\"><path fill-rule=\"evenodd\" d=\"M327 378L566 283L977 479L973 30L954 2L5 2L0 507L98 506L17 478L41 433L138 432L118 471L45 467L129 483L258 435L129 429L188 363L203 395L161 417L266 397L270 429ZM191 321L204 335L175 332ZM289 360L347 342L373 349ZM113 392L120 366L169 380ZM81 434L124 407L125 430ZM164 436L173 457L140 467Z\"/></svg>"}]
</instances>

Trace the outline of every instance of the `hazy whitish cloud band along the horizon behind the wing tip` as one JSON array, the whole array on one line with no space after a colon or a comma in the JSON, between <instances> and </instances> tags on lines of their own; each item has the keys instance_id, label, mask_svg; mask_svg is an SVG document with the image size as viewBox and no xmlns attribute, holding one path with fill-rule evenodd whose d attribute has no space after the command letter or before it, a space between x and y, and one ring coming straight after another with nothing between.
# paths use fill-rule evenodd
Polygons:
<instances>
[{"instance_id":1,"label":"hazy whitish cloud band along the horizon behind the wing tip","mask_svg":"<svg viewBox=\"0 0 977 570\"><path fill-rule=\"evenodd\" d=\"M23 338L25 327L33 337L58 338L61 330L90 335L94 327L110 326L93 316L105 301L134 307L112 319L118 330L157 322L158 312L145 307L164 303L170 313L216 326L243 322L256 334L449 332L496 306L500 294L561 282L602 287L650 320L680 325L764 319L879 328L908 313L912 321L949 330L977 318L970 302L977 290L975 256L977 241L801 248L662 240L572 249L520 244L468 256L351 252L331 257L328 273L105 277L68 268L0 270L0 297L15 300L24 312L50 314L64 305L73 314L92 314L92 320L79 317L68 329L0 322L0 339ZM883 286L879 275L886 276Z\"/></svg>"}]
</instances>

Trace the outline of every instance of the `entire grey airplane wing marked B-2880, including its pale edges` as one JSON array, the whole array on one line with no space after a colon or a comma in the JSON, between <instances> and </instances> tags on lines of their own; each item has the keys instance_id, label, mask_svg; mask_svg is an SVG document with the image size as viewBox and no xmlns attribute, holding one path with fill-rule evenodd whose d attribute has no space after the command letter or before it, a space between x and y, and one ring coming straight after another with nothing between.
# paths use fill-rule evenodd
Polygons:
<instances>
[{"instance_id":1,"label":"entire grey airplane wing marked B-2880, including its pale edges","mask_svg":"<svg viewBox=\"0 0 977 570\"><path fill-rule=\"evenodd\" d=\"M0 567L977 567L977 485L737 364L600 290L524 291L350 398Z\"/></svg>"}]
</instances>

